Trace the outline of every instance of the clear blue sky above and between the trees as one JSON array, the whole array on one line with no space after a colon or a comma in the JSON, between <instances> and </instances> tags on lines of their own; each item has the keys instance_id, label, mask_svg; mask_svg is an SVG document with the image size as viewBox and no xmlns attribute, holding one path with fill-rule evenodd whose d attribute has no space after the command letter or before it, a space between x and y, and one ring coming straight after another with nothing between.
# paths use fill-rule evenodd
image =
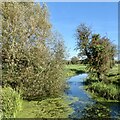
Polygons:
<instances>
[{"instance_id":1,"label":"clear blue sky above and between the trees","mask_svg":"<svg viewBox=\"0 0 120 120\"><path fill-rule=\"evenodd\" d=\"M59 31L69 50L71 58L75 51L75 30L81 23L92 27L93 32L107 36L118 44L118 3L117 2L47 2L50 21Z\"/></svg>"}]
</instances>

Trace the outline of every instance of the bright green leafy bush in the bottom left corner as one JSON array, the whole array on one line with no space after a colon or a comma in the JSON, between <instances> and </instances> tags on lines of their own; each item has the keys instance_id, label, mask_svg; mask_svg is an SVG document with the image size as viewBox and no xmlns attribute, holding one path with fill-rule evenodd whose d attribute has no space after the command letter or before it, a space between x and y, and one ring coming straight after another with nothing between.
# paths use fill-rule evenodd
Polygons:
<instances>
[{"instance_id":1,"label":"bright green leafy bush in the bottom left corner","mask_svg":"<svg viewBox=\"0 0 120 120\"><path fill-rule=\"evenodd\" d=\"M22 100L20 94L10 87L2 89L2 118L14 118L21 110Z\"/></svg>"}]
</instances>

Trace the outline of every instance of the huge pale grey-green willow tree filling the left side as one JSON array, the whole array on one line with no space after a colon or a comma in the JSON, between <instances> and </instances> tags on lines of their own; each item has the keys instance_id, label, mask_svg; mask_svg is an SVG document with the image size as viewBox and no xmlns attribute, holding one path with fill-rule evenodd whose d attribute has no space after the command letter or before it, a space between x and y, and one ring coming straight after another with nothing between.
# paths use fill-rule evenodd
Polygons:
<instances>
[{"instance_id":1,"label":"huge pale grey-green willow tree filling the left side","mask_svg":"<svg viewBox=\"0 0 120 120\"><path fill-rule=\"evenodd\" d=\"M51 27L46 4L2 3L3 86L22 90L26 99L54 96L56 93L51 92L51 88L56 90L56 85L61 82L58 79L60 72L51 71L52 67L62 62L59 59L55 65L52 64L57 51L54 51L52 60L53 47L48 45ZM54 46L57 43L54 42ZM59 50L59 47L54 48ZM50 75L53 76L51 79Z\"/></svg>"}]
</instances>

